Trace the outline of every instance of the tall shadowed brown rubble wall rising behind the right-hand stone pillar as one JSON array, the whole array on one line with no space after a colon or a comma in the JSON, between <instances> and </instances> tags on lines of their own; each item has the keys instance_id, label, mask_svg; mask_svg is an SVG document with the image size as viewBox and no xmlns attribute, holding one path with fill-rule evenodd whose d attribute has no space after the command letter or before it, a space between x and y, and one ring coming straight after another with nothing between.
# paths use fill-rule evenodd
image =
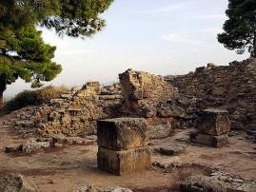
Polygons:
<instances>
[{"instance_id":1,"label":"tall shadowed brown rubble wall rising behind the right-hand stone pillar","mask_svg":"<svg viewBox=\"0 0 256 192\"><path fill-rule=\"evenodd\" d=\"M232 128L256 129L256 59L220 67L208 64L166 80L181 95L212 100L211 104L227 109Z\"/></svg>"}]
</instances>

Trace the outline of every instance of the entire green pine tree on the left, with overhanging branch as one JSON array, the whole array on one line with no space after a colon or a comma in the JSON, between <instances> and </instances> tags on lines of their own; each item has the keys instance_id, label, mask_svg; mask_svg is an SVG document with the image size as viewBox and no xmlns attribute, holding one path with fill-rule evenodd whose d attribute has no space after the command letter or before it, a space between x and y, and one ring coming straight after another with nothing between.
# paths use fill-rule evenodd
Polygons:
<instances>
[{"instance_id":1,"label":"entire green pine tree on the left, with overhanging branch","mask_svg":"<svg viewBox=\"0 0 256 192\"><path fill-rule=\"evenodd\" d=\"M39 87L61 72L61 66L51 61L56 48L44 43L36 26L55 29L59 35L85 38L105 26L99 15L112 1L0 1L0 107L7 85L18 78Z\"/></svg>"}]
</instances>

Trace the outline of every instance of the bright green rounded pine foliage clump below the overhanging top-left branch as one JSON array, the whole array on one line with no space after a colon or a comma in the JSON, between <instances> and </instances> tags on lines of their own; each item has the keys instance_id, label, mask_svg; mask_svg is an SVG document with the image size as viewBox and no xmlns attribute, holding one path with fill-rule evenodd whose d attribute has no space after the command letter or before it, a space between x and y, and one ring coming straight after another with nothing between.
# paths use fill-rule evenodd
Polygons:
<instances>
[{"instance_id":1,"label":"bright green rounded pine foliage clump below the overhanging top-left branch","mask_svg":"<svg viewBox=\"0 0 256 192\"><path fill-rule=\"evenodd\" d=\"M45 44L41 31L33 26L9 33L0 48L0 76L4 76L7 85L20 77L38 87L61 72L61 66L51 62L55 47Z\"/></svg>"}]
</instances>

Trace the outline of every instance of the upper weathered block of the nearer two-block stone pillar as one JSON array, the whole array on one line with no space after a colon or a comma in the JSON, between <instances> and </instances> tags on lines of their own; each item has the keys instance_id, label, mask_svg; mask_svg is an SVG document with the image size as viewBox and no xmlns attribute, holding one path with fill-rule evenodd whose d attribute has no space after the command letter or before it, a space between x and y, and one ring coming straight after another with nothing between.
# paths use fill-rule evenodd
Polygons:
<instances>
[{"instance_id":1,"label":"upper weathered block of the nearer two-block stone pillar","mask_svg":"<svg viewBox=\"0 0 256 192\"><path fill-rule=\"evenodd\" d=\"M116 118L97 122L98 145L119 151L148 145L144 118Z\"/></svg>"}]
</instances>

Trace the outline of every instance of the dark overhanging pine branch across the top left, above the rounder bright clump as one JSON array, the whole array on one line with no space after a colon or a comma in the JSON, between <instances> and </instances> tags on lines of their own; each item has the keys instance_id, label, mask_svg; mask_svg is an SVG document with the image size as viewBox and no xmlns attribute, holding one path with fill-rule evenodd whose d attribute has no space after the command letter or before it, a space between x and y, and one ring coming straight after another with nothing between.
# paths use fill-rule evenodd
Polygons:
<instances>
[{"instance_id":1,"label":"dark overhanging pine branch across the top left, above the rounder bright clump","mask_svg":"<svg viewBox=\"0 0 256 192\"><path fill-rule=\"evenodd\" d=\"M99 14L113 0L6 0L0 1L0 30L40 24L59 34L90 36L102 29Z\"/></svg>"}]
</instances>

